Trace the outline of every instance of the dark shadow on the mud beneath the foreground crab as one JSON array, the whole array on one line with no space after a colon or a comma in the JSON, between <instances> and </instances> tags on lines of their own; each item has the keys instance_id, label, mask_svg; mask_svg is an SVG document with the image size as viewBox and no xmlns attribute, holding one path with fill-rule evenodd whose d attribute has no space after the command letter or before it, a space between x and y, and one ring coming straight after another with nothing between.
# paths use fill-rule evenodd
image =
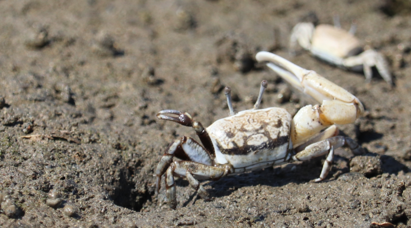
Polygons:
<instances>
[{"instance_id":1,"label":"dark shadow on the mud beneath the foreground crab","mask_svg":"<svg viewBox=\"0 0 411 228\"><path fill-rule=\"evenodd\" d=\"M375 153L367 153L364 155L358 156L379 156ZM411 170L401 162L397 161L394 157L388 155L381 155L381 170L382 173L388 173L390 175L398 175L400 171L405 173L410 172ZM263 170L242 173L233 176L223 177L216 181L204 181L201 184L204 186L209 186L207 188L210 196L215 198L220 198L224 196L229 196L233 192L237 191L240 188L247 186L258 186L266 185L271 187L282 187L289 183L308 183L313 182L314 179L318 178L321 173L323 166L324 158L314 158L309 161L299 162L299 163L289 163L282 165L281 167L271 167ZM324 182L333 182L338 178L344 176L365 176L366 178L376 177L382 173L376 173L372 175L364 175L362 173L350 172L349 170L350 159L344 156L335 155L334 156L334 165L328 174ZM339 165L341 163L346 163L346 165ZM179 186L189 186L188 181L185 179L180 179L177 181ZM183 203L183 206L195 203L197 199L200 199L198 194L193 193L189 199ZM193 202L194 200L194 202Z\"/></svg>"}]
</instances>

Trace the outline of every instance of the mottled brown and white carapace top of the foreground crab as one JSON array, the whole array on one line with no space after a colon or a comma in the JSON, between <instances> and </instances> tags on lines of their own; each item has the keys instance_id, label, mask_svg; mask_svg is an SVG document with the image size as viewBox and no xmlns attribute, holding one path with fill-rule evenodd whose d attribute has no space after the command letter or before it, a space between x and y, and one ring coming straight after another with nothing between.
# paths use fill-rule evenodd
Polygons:
<instances>
[{"instance_id":1,"label":"mottled brown and white carapace top of the foreground crab","mask_svg":"<svg viewBox=\"0 0 411 228\"><path fill-rule=\"evenodd\" d=\"M246 155L288 143L290 122L282 108L246 110L215 121L207 131L222 154Z\"/></svg>"}]
</instances>

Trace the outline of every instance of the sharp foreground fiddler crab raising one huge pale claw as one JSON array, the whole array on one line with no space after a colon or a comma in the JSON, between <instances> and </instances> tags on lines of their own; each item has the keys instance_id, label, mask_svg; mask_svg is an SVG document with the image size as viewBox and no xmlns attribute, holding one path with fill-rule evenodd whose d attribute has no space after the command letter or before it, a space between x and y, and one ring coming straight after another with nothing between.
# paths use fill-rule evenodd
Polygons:
<instances>
[{"instance_id":1,"label":"sharp foreground fiddler crab raising one huge pale claw","mask_svg":"<svg viewBox=\"0 0 411 228\"><path fill-rule=\"evenodd\" d=\"M256 60L270 62L267 64L269 68L322 105L307 105L294 117L282 108L258 109L267 88L267 81L263 80L254 108L236 114L231 103L231 89L226 87L230 116L215 121L208 128L188 113L160 111L159 119L192 127L202 143L201 146L193 138L182 136L170 144L157 165L156 191L160 190L161 176L165 173L165 192L170 208L177 206L174 176L185 177L201 198L209 200L209 194L198 180L217 180L327 155L320 177L315 179L322 181L331 169L335 148L345 144L354 154L363 153L353 139L338 136L335 126L353 123L363 115L364 107L357 97L315 71L303 69L270 52L258 52ZM173 157L179 160L173 161Z\"/></svg>"}]
</instances>

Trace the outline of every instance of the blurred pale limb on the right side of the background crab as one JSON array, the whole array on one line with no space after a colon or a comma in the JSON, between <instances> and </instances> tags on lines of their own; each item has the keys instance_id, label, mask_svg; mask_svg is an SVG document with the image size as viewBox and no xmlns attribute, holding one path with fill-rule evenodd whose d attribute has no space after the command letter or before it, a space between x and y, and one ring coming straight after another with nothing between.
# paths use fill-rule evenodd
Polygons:
<instances>
[{"instance_id":1,"label":"blurred pale limb on the right side of the background crab","mask_svg":"<svg viewBox=\"0 0 411 228\"><path fill-rule=\"evenodd\" d=\"M384 57L375 50L366 50L359 55L351 56L343 60L343 65L346 68L351 68L358 65L363 65L365 81L369 83L372 78L371 67L376 66L381 77L389 84L393 84L393 79L388 70L388 64Z\"/></svg>"}]
</instances>

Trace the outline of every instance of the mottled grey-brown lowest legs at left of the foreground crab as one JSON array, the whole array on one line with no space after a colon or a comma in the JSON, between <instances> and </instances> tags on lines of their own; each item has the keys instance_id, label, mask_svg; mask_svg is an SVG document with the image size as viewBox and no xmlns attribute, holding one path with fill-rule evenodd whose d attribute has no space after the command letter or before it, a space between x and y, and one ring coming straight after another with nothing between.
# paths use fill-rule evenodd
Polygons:
<instances>
[{"instance_id":1,"label":"mottled grey-brown lowest legs at left of the foreground crab","mask_svg":"<svg viewBox=\"0 0 411 228\"><path fill-rule=\"evenodd\" d=\"M174 182L174 174L185 176L193 189L195 189L201 198L209 200L210 196L203 186L195 179L195 176L202 177L202 179L219 179L229 171L217 167L211 167L205 164L200 164L193 161L174 161L165 173L165 195L167 202L172 209L176 209L176 186Z\"/></svg>"}]
</instances>

